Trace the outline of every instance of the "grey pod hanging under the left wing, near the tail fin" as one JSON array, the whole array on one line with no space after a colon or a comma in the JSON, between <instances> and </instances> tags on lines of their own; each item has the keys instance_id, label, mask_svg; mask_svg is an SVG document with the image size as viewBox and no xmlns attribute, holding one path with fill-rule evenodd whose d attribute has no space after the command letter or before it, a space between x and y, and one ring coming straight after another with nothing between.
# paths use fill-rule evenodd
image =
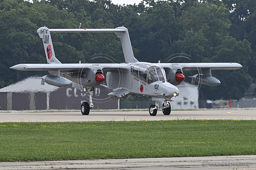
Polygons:
<instances>
[{"instance_id":1,"label":"grey pod hanging under the left wing, near the tail fin","mask_svg":"<svg viewBox=\"0 0 256 170\"><path fill-rule=\"evenodd\" d=\"M43 76L41 80L41 85L44 85L44 82L49 85L54 85L57 87L66 87L68 82L64 78L54 77L54 76Z\"/></svg>"}]
</instances>

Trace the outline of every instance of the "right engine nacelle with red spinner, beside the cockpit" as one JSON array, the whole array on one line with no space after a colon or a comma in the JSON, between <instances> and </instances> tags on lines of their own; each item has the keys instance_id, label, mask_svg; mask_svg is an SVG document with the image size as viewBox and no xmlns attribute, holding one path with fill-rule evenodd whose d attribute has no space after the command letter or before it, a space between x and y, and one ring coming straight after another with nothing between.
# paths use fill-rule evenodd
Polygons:
<instances>
[{"instance_id":1,"label":"right engine nacelle with red spinner, beside the cockpit","mask_svg":"<svg viewBox=\"0 0 256 170\"><path fill-rule=\"evenodd\" d=\"M185 79L182 68L179 65L173 65L172 70L166 70L165 74L167 82L171 83L172 85L180 85L180 83Z\"/></svg>"}]
</instances>

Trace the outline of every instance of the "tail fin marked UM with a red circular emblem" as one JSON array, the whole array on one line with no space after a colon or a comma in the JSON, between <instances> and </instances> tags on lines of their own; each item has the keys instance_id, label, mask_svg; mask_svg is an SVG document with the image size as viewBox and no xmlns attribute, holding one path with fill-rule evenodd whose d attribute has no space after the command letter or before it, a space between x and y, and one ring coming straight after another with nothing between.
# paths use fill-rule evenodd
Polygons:
<instances>
[{"instance_id":1,"label":"tail fin marked UM with a red circular emblem","mask_svg":"<svg viewBox=\"0 0 256 170\"><path fill-rule=\"evenodd\" d=\"M52 38L50 30L47 27L41 27L37 30L40 38L43 39L44 51L48 64L60 64L60 61L55 57L55 53L52 45Z\"/></svg>"}]
</instances>

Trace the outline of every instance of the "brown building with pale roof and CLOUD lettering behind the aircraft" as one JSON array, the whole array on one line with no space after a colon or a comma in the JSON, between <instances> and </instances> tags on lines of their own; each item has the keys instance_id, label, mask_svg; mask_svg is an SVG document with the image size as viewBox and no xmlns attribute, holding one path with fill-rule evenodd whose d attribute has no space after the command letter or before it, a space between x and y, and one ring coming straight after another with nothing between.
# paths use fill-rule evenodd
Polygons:
<instances>
[{"instance_id":1,"label":"brown building with pale roof and CLOUD lettering behind the aircraft","mask_svg":"<svg viewBox=\"0 0 256 170\"><path fill-rule=\"evenodd\" d=\"M69 85L56 87L45 83L41 78L29 77L15 84L0 89L0 107L3 110L45 110L45 109L76 109L81 103L89 103L89 95L85 91L72 88ZM94 88L92 94L93 109L117 109L118 100L111 99L111 91L104 85Z\"/></svg>"}]
</instances>

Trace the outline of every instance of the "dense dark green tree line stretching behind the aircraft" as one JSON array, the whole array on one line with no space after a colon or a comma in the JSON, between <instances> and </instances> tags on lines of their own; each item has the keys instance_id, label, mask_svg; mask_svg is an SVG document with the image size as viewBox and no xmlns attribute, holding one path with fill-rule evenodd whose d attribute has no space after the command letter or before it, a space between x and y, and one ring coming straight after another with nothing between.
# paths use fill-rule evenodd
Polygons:
<instances>
[{"instance_id":1,"label":"dense dark green tree line stretching behind the aircraft","mask_svg":"<svg viewBox=\"0 0 256 170\"><path fill-rule=\"evenodd\" d=\"M135 58L161 63L235 62L239 70L212 70L219 86L202 85L200 98L240 99L256 83L256 0L144 0L138 5L115 5L111 0L0 0L0 88L42 72L17 71L20 63L46 63L36 30L48 28L128 28ZM107 54L124 62L114 33L52 33L56 57L62 63L107 63L92 59ZM45 73L45 72L44 72ZM185 72L190 82L197 72ZM256 91L256 89L255 89Z\"/></svg>"}]
</instances>

